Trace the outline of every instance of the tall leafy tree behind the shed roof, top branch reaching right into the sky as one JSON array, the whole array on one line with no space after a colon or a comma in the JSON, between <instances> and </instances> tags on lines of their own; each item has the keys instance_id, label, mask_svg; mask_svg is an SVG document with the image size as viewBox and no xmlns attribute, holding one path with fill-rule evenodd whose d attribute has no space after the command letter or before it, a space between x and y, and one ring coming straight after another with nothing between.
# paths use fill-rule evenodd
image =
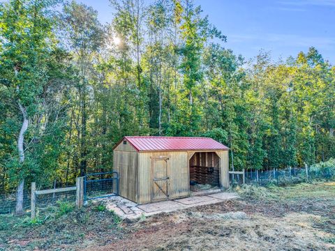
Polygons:
<instances>
[{"instance_id":1,"label":"tall leafy tree behind the shed roof, top branch reaching right into the sky","mask_svg":"<svg viewBox=\"0 0 335 251\"><path fill-rule=\"evenodd\" d=\"M207 17L202 17L200 6L194 7L193 1L185 0L181 15L181 39L183 45L179 52L181 54L181 65L183 74L184 91L180 96L181 116L179 121L186 126L186 132L192 133L199 130L200 107L198 105L199 86L202 82L202 52L204 44L209 38L219 38L225 41L225 36L209 24ZM186 103L188 100L188 104ZM184 133L186 133L184 132Z\"/></svg>"}]
</instances>

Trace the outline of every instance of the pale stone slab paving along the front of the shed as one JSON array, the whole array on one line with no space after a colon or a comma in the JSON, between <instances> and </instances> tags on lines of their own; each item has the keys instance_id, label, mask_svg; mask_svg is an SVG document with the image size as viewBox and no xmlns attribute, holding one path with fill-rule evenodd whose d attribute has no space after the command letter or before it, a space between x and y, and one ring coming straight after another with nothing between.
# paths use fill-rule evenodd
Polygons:
<instances>
[{"instance_id":1,"label":"pale stone slab paving along the front of the shed","mask_svg":"<svg viewBox=\"0 0 335 251\"><path fill-rule=\"evenodd\" d=\"M132 220L140 218L143 215L150 216L158 213L170 213L194 206L216 204L237 197L237 194L234 192L216 192L214 194L208 192L202 195L159 201L150 204L137 204L121 196L96 199L95 202L103 201L107 210L114 211L114 213L122 219Z\"/></svg>"}]
</instances>

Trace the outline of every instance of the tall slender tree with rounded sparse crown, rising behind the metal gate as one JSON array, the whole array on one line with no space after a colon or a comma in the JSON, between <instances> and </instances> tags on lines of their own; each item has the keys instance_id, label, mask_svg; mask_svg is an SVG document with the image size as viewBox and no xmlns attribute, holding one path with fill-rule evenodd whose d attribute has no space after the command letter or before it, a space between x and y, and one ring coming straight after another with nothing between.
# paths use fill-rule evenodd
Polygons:
<instances>
[{"instance_id":1,"label":"tall slender tree with rounded sparse crown, rising behind the metal gate","mask_svg":"<svg viewBox=\"0 0 335 251\"><path fill-rule=\"evenodd\" d=\"M80 175L87 172L87 103L89 102L89 80L95 53L103 45L103 27L98 22L98 13L83 3L71 1L64 6L61 17L66 31L64 44L74 54L74 66L78 72L79 114L75 120L77 140L80 149ZM79 121L80 119L80 121Z\"/></svg>"}]
</instances>

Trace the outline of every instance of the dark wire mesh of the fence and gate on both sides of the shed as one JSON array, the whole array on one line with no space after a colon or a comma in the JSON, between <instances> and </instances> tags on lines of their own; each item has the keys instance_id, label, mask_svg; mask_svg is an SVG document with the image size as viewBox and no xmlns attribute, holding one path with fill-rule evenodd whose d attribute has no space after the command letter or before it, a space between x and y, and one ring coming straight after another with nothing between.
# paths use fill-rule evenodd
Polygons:
<instances>
[{"instance_id":1,"label":"dark wire mesh of the fence and gate on both sides of the shed","mask_svg":"<svg viewBox=\"0 0 335 251\"><path fill-rule=\"evenodd\" d=\"M315 181L318 179L332 179L335 178L334 168L323 168L321 171L313 168L286 168L286 169L272 169L266 171L251 171L244 173L245 183L251 185L290 185L304 181ZM230 174L230 185L243 184L243 176L240 174ZM38 190L65 188L70 185L52 184L49 187L38 187ZM117 185L118 186L118 185ZM84 198L94 199L96 197L104 197L112 195L116 190L116 179L112 173L98 174L87 179L84 188ZM16 194L0 193L0 214L15 213ZM57 206L59 201L74 202L76 198L76 191L54 192L45 195L36 196L36 205L39 210L47 208L48 206ZM30 187L24 190L24 211L29 211L31 206L31 190Z\"/></svg>"}]
</instances>

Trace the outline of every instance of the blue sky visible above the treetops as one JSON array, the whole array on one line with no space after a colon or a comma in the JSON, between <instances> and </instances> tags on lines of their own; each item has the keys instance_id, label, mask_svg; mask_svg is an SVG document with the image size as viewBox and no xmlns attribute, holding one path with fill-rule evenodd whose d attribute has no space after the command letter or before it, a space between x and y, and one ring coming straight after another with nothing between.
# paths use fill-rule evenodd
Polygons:
<instances>
[{"instance_id":1,"label":"blue sky visible above the treetops","mask_svg":"<svg viewBox=\"0 0 335 251\"><path fill-rule=\"evenodd\" d=\"M108 0L80 0L112 20ZM225 47L251 58L263 49L274 60L316 47L335 63L335 0L195 0L226 36Z\"/></svg>"}]
</instances>

